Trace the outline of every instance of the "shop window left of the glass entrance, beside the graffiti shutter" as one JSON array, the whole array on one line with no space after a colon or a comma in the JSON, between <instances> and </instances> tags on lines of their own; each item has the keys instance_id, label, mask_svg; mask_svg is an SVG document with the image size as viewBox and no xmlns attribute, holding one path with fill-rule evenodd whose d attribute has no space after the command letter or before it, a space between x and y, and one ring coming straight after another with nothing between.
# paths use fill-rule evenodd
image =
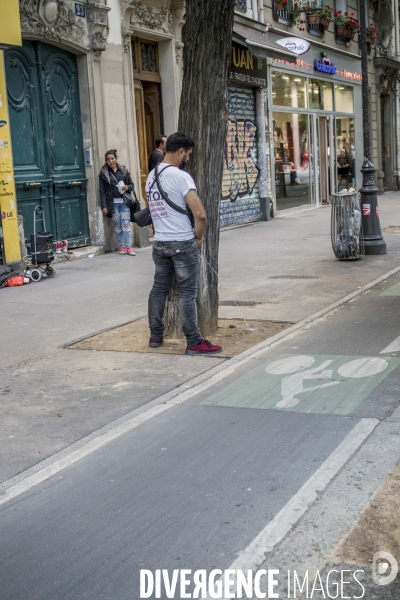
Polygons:
<instances>
[{"instance_id":1,"label":"shop window left of the glass entrance, beside the graffiti shutter","mask_svg":"<svg viewBox=\"0 0 400 600\"><path fill-rule=\"evenodd\" d=\"M308 124L308 115L273 113L278 210L311 202Z\"/></svg>"}]
</instances>

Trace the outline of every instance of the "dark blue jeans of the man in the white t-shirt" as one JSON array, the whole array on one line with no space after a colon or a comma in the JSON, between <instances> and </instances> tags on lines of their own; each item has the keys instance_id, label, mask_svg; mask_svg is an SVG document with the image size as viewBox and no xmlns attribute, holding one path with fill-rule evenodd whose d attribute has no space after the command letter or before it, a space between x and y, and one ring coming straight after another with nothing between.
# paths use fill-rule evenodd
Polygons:
<instances>
[{"instance_id":1,"label":"dark blue jeans of the man in the white t-shirt","mask_svg":"<svg viewBox=\"0 0 400 600\"><path fill-rule=\"evenodd\" d=\"M195 240L186 242L154 242L154 283L149 296L149 327L152 338L164 335L165 302L172 287L174 274L179 289L179 312L187 345L195 346L202 340L197 325L197 287L199 252Z\"/></svg>"}]
</instances>

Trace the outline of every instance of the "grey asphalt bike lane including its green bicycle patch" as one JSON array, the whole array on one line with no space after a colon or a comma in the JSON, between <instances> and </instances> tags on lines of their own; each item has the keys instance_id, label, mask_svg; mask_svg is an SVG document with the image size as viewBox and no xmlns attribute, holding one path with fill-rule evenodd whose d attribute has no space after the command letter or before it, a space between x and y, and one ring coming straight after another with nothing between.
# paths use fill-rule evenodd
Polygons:
<instances>
[{"instance_id":1,"label":"grey asphalt bike lane including its green bicycle patch","mask_svg":"<svg viewBox=\"0 0 400 600\"><path fill-rule=\"evenodd\" d=\"M400 345L382 352L400 335L399 282L1 505L1 600L132 600L140 569L240 561L332 453L345 464L354 432L398 406Z\"/></svg>"}]
</instances>

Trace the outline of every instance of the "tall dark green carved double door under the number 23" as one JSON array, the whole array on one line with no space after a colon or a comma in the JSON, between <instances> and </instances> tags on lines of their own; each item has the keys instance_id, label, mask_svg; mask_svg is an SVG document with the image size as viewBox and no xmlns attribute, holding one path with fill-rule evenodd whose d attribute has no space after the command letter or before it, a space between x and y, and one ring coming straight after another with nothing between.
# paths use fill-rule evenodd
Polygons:
<instances>
[{"instance_id":1,"label":"tall dark green carved double door under the number 23","mask_svg":"<svg viewBox=\"0 0 400 600\"><path fill-rule=\"evenodd\" d=\"M79 89L74 55L24 42L5 55L18 212L26 239L41 204L47 230L90 244Z\"/></svg>"}]
</instances>

